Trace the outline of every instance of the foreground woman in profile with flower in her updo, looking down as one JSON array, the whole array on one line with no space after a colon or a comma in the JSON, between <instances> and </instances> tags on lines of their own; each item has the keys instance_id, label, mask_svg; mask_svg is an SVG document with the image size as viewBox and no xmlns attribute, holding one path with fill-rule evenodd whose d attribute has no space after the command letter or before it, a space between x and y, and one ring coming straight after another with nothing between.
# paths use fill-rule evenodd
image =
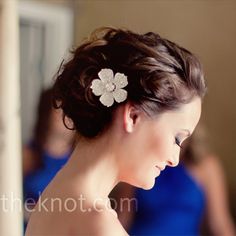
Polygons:
<instances>
[{"instance_id":1,"label":"foreground woman in profile with flower in her updo, looking down","mask_svg":"<svg viewBox=\"0 0 236 236\"><path fill-rule=\"evenodd\" d=\"M150 189L166 166L178 164L200 118L201 65L155 33L103 28L75 50L54 89L78 143L26 235L127 235L108 195L119 182ZM55 198L60 204L52 206Z\"/></svg>"}]
</instances>

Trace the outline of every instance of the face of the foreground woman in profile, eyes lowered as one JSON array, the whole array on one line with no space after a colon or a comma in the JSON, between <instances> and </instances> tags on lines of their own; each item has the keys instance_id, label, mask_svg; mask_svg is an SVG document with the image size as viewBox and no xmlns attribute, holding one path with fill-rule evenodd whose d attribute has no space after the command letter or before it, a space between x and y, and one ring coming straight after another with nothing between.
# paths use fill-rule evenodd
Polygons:
<instances>
[{"instance_id":1,"label":"face of the foreground woman in profile, eyes lowered","mask_svg":"<svg viewBox=\"0 0 236 236\"><path fill-rule=\"evenodd\" d=\"M122 142L124 181L150 189L166 166L176 166L182 142L194 131L201 114L201 99L196 97L177 111L158 118L139 117L133 131Z\"/></svg>"}]
</instances>

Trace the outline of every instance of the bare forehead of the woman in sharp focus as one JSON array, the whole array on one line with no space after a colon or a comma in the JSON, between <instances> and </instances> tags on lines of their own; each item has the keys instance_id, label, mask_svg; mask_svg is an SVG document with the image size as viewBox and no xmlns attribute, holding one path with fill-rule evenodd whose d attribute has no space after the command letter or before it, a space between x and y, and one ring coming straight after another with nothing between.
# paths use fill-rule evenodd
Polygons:
<instances>
[{"instance_id":1,"label":"bare forehead of the woman in sharp focus","mask_svg":"<svg viewBox=\"0 0 236 236\"><path fill-rule=\"evenodd\" d=\"M188 104L182 105L178 110L164 112L157 123L173 129L188 129L192 133L200 119L200 115L201 99L196 97Z\"/></svg>"}]
</instances>

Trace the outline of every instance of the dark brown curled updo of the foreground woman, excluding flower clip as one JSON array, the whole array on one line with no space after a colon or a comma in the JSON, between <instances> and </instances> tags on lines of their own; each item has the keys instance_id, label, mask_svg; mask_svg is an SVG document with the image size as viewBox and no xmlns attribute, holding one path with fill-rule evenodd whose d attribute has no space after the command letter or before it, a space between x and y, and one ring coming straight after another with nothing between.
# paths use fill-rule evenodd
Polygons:
<instances>
[{"instance_id":1,"label":"dark brown curled updo of the foreground woman, excluding flower clip","mask_svg":"<svg viewBox=\"0 0 236 236\"><path fill-rule=\"evenodd\" d=\"M128 98L149 116L177 109L206 87L198 59L186 49L149 32L101 28L73 51L54 84L54 105L71 118L84 137L99 135L119 104L106 107L90 88L98 72L110 68L128 77Z\"/></svg>"}]
</instances>

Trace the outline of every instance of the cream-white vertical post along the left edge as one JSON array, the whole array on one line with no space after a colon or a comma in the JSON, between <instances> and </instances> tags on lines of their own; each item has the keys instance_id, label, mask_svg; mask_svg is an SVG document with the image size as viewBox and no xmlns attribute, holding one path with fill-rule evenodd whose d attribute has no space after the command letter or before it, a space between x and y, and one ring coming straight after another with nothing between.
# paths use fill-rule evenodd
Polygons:
<instances>
[{"instance_id":1,"label":"cream-white vertical post along the left edge","mask_svg":"<svg viewBox=\"0 0 236 236\"><path fill-rule=\"evenodd\" d=\"M0 235L22 229L18 14L16 0L0 2Z\"/></svg>"}]
</instances>

